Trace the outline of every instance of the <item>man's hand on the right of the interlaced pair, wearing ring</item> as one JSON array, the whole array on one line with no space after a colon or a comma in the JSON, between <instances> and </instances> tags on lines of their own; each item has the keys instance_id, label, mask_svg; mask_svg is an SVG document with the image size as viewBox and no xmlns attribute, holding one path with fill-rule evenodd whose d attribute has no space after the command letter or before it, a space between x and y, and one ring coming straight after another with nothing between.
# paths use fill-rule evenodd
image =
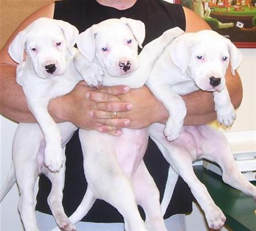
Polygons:
<instances>
[{"instance_id":1,"label":"man's hand on the right of the interlaced pair, wearing ring","mask_svg":"<svg viewBox=\"0 0 256 231\"><path fill-rule=\"evenodd\" d=\"M119 95L119 97L123 102L130 102L130 106L132 107L131 110L117 113L118 118L127 118L130 120L130 124L127 125L128 128L141 129L154 122L164 124L168 118L168 112L163 104L153 96L152 92L146 86L130 90L126 94ZM98 122L101 122L101 120L104 120L106 117L112 117L112 113L101 111L98 107L92 110L91 113L92 117ZM103 129L103 131L105 128L105 125L100 126L100 129Z\"/></svg>"}]
</instances>

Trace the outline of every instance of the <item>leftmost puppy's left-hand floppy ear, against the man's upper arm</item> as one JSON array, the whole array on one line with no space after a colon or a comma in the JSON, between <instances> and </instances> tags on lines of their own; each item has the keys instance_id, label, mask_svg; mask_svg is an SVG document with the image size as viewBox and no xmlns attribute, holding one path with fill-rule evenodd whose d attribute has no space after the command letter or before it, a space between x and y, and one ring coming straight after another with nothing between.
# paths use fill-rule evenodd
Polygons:
<instances>
[{"instance_id":1,"label":"leftmost puppy's left-hand floppy ear, against the man's upper arm","mask_svg":"<svg viewBox=\"0 0 256 231\"><path fill-rule=\"evenodd\" d=\"M20 31L13 39L12 43L10 43L8 48L10 57L18 64L23 62L26 35L27 31L25 29Z\"/></svg>"}]
</instances>

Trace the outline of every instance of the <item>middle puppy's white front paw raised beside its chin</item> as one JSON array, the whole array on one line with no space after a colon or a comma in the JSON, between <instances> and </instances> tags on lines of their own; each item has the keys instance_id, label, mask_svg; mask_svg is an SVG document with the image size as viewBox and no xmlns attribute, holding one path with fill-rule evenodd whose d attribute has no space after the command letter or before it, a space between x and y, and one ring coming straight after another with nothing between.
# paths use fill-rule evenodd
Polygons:
<instances>
[{"instance_id":1,"label":"middle puppy's white front paw raised beside its chin","mask_svg":"<svg viewBox=\"0 0 256 231\"><path fill-rule=\"evenodd\" d=\"M86 84L91 87L98 87L103 84L103 78L105 72L101 66L97 64L88 64L86 68L82 70L82 76Z\"/></svg>"}]
</instances>

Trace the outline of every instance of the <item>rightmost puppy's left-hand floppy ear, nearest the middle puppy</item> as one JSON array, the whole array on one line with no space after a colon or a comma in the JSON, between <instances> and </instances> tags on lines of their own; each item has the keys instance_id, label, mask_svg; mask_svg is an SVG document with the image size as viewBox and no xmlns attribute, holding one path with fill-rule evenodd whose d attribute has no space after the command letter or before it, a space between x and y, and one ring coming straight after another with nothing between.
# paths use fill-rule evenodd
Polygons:
<instances>
[{"instance_id":1,"label":"rightmost puppy's left-hand floppy ear, nearest the middle puppy","mask_svg":"<svg viewBox=\"0 0 256 231\"><path fill-rule=\"evenodd\" d=\"M195 39L191 34L184 34L179 36L173 41L173 44L167 47L173 63L181 69L181 73L184 74L188 68L190 60L190 51Z\"/></svg>"}]
</instances>

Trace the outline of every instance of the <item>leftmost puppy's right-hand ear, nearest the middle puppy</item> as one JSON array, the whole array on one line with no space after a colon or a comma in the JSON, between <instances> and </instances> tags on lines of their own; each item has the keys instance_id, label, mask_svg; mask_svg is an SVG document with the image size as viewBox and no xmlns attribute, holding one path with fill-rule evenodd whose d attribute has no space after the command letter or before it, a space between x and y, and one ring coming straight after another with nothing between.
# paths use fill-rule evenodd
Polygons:
<instances>
[{"instance_id":1,"label":"leftmost puppy's right-hand ear, nearest the middle puppy","mask_svg":"<svg viewBox=\"0 0 256 231\"><path fill-rule=\"evenodd\" d=\"M72 55L72 50L76 42L76 38L78 37L78 29L74 27L74 25L71 25L70 23L67 23L63 20L54 20L58 27L61 28L61 30L64 33L65 40L67 42L68 51L70 51L70 54Z\"/></svg>"}]
</instances>

